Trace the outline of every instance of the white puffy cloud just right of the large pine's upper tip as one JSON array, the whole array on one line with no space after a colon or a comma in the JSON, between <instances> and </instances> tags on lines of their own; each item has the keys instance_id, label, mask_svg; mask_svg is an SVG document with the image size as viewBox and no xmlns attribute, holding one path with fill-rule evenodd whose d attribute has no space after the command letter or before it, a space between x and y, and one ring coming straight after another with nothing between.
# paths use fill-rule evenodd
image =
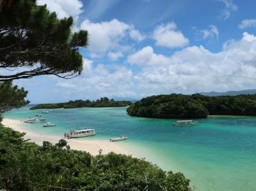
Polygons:
<instances>
[{"instance_id":1,"label":"white puffy cloud just right of the large pine's upper tip","mask_svg":"<svg viewBox=\"0 0 256 191\"><path fill-rule=\"evenodd\" d=\"M127 49L122 44L127 36L133 40L142 40L143 36L133 26L113 19L107 22L91 22L86 19L81 24L81 29L89 33L88 49L93 52L107 52L108 50ZM134 32L135 31L135 32Z\"/></svg>"}]
</instances>

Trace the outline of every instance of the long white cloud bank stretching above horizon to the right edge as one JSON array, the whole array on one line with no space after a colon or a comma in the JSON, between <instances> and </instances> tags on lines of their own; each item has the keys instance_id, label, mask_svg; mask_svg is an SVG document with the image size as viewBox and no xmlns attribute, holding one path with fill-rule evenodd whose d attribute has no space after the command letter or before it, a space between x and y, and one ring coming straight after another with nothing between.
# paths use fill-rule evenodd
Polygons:
<instances>
[{"instance_id":1,"label":"long white cloud bank stretching above horizon to the right edge","mask_svg":"<svg viewBox=\"0 0 256 191\"><path fill-rule=\"evenodd\" d=\"M228 41L217 53L203 46L191 46L174 52L172 56L164 56L156 54L152 47L144 47L128 56L127 61L140 69L132 72L127 65L109 70L100 63L84 59L83 74L65 80L70 86L62 86L70 87L70 94L81 93L93 98L141 98L173 92L252 88L256 81L256 36L244 33L241 40Z\"/></svg>"}]
</instances>

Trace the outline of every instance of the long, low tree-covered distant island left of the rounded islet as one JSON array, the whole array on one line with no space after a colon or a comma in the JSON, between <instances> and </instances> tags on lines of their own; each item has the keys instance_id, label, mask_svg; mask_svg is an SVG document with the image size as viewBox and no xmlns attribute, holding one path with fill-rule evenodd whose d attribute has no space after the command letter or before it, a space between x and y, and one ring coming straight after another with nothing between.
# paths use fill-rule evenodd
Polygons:
<instances>
[{"instance_id":1,"label":"long, low tree-covered distant island left of the rounded islet","mask_svg":"<svg viewBox=\"0 0 256 191\"><path fill-rule=\"evenodd\" d=\"M58 109L58 108L71 109L71 108L78 108L78 107L126 107L129 105L131 105L131 102L129 101L115 101L113 99L104 97L96 101L70 100L69 102L63 102L63 103L43 103L43 104L35 105L30 109L33 110L33 109Z\"/></svg>"}]
</instances>

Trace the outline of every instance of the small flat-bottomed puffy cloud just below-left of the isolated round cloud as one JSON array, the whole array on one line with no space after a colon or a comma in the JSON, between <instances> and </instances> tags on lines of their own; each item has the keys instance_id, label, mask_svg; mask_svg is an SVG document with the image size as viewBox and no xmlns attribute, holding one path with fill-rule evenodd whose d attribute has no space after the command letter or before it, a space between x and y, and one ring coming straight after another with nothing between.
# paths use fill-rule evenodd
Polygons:
<instances>
[{"instance_id":1,"label":"small flat-bottomed puffy cloud just below-left of the isolated round cloud","mask_svg":"<svg viewBox=\"0 0 256 191\"><path fill-rule=\"evenodd\" d=\"M134 65L165 65L170 62L170 58L161 54L155 54L152 47L144 47L138 52L127 57L127 61Z\"/></svg>"}]
</instances>

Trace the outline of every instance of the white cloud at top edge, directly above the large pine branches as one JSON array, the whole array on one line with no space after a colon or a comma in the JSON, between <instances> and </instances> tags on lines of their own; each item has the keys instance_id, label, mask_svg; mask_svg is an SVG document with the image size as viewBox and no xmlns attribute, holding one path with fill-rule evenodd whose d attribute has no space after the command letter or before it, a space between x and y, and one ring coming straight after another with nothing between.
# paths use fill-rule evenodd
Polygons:
<instances>
[{"instance_id":1,"label":"white cloud at top edge, directly above the large pine branches","mask_svg":"<svg viewBox=\"0 0 256 191\"><path fill-rule=\"evenodd\" d=\"M59 19L64 17L74 17L75 20L83 12L83 3L79 0L37 0L37 4L47 4L49 11L55 11Z\"/></svg>"}]
</instances>

